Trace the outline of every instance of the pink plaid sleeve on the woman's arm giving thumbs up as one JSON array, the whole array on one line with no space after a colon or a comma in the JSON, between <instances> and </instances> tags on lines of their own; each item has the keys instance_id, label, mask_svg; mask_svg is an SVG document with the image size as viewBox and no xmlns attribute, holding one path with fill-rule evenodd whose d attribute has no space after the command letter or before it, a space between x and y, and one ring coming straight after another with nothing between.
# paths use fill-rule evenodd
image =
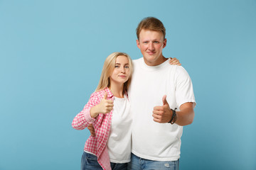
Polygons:
<instances>
[{"instance_id":1,"label":"pink plaid sleeve on the woman's arm giving thumbs up","mask_svg":"<svg viewBox=\"0 0 256 170\"><path fill-rule=\"evenodd\" d=\"M72 122L72 127L75 130L83 130L87 128L90 123L95 123L96 119L90 116L90 109L100 103L100 97L93 93L90 96L90 100L85 105L78 115L75 116Z\"/></svg>"}]
</instances>

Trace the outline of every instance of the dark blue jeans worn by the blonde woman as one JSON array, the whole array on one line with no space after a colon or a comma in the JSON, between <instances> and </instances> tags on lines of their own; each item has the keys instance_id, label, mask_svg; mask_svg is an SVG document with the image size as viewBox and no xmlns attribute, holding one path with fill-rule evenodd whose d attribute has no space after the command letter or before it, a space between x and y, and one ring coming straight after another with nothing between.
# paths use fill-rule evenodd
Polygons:
<instances>
[{"instance_id":1,"label":"dark blue jeans worn by the blonde woman","mask_svg":"<svg viewBox=\"0 0 256 170\"><path fill-rule=\"evenodd\" d=\"M112 170L127 170L127 163L116 164L110 162ZM97 162L97 157L93 154L83 152L81 159L81 170L102 170L102 167Z\"/></svg>"}]
</instances>

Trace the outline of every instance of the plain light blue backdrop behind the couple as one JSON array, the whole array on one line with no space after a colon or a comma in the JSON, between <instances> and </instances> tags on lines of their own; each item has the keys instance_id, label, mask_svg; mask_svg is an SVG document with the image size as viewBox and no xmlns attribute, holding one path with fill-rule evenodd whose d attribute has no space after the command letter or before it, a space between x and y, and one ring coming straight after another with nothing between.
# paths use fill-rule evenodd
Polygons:
<instances>
[{"instance_id":1,"label":"plain light blue backdrop behind the couple","mask_svg":"<svg viewBox=\"0 0 256 170\"><path fill-rule=\"evenodd\" d=\"M256 169L255 0L0 0L1 170L80 169L89 131L71 122L110 53L142 57L146 16L164 23L164 56L193 80L180 169Z\"/></svg>"}]
</instances>

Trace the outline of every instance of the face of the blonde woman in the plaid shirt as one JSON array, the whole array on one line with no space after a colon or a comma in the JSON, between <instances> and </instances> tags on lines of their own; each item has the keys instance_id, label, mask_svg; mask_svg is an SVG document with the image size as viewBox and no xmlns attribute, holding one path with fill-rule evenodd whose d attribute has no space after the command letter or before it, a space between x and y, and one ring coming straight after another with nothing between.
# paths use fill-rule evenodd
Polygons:
<instances>
[{"instance_id":1,"label":"face of the blonde woman in the plaid shirt","mask_svg":"<svg viewBox=\"0 0 256 170\"><path fill-rule=\"evenodd\" d=\"M119 55L110 76L110 84L124 84L129 79L129 75L129 60L126 56Z\"/></svg>"}]
</instances>

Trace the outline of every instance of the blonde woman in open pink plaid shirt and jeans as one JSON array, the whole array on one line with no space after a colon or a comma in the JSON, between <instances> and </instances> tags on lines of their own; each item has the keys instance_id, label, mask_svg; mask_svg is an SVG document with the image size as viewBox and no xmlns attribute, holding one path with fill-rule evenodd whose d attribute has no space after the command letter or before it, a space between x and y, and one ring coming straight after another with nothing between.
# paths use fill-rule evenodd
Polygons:
<instances>
[{"instance_id":1,"label":"blonde woman in open pink plaid shirt and jeans","mask_svg":"<svg viewBox=\"0 0 256 170\"><path fill-rule=\"evenodd\" d=\"M180 64L176 58L171 64ZM100 82L72 126L83 130L92 124L95 136L85 142L81 170L127 169L131 157L131 125L127 89L132 80L132 60L113 52L103 65Z\"/></svg>"}]
</instances>

